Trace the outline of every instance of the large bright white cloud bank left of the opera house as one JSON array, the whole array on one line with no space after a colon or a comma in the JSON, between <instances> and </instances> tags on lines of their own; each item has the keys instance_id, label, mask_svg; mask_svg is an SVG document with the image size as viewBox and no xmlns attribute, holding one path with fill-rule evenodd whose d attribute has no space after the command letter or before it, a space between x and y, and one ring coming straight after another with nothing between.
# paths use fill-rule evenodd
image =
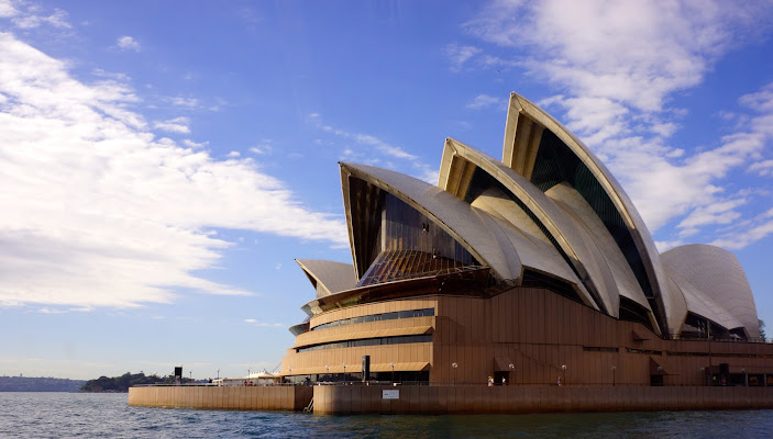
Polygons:
<instances>
[{"instance_id":1,"label":"large bright white cloud bank left of the opera house","mask_svg":"<svg viewBox=\"0 0 773 439\"><path fill-rule=\"evenodd\" d=\"M0 72L1 305L247 294L195 274L231 246L212 228L347 243L343 218L303 206L252 160L154 139L125 85L79 82L7 33Z\"/></svg>"}]
</instances>

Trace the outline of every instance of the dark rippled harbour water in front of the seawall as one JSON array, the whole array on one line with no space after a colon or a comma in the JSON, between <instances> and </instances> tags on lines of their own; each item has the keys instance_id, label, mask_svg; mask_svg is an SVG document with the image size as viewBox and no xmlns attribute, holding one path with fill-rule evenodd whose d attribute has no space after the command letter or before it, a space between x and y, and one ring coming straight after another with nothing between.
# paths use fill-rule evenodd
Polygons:
<instances>
[{"instance_id":1,"label":"dark rippled harbour water in front of the seawall","mask_svg":"<svg viewBox=\"0 0 773 439\"><path fill-rule=\"evenodd\" d=\"M0 438L772 438L773 410L321 416L130 407L126 394L0 393Z\"/></svg>"}]
</instances>

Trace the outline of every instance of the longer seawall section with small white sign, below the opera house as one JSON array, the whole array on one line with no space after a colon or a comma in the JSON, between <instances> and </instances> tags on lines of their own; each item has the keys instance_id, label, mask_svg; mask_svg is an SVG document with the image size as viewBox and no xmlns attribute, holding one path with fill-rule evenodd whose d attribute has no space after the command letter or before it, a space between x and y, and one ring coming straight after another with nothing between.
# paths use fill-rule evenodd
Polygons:
<instances>
[{"instance_id":1,"label":"longer seawall section with small white sign, below the opera house","mask_svg":"<svg viewBox=\"0 0 773 439\"><path fill-rule=\"evenodd\" d=\"M773 408L772 387L314 386L316 414L524 414Z\"/></svg>"}]
</instances>

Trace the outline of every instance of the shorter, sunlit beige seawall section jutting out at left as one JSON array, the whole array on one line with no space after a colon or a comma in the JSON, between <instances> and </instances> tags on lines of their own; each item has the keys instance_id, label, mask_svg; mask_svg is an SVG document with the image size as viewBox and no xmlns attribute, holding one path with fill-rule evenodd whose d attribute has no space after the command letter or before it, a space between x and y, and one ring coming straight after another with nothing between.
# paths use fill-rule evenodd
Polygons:
<instances>
[{"instance_id":1,"label":"shorter, sunlit beige seawall section jutting out at left","mask_svg":"<svg viewBox=\"0 0 773 439\"><path fill-rule=\"evenodd\" d=\"M305 386L147 386L129 389L129 405L227 410L302 410L311 401Z\"/></svg>"}]
</instances>

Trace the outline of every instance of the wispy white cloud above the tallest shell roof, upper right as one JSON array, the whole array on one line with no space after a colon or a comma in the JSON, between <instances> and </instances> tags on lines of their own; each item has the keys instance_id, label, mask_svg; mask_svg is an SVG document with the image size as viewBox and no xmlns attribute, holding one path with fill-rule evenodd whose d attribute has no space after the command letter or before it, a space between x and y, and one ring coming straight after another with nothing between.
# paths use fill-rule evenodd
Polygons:
<instances>
[{"instance_id":1,"label":"wispy white cloud above the tallest shell roof, upper right","mask_svg":"<svg viewBox=\"0 0 773 439\"><path fill-rule=\"evenodd\" d=\"M650 228L680 219L685 236L743 215L740 204L711 206L744 199L725 179L771 143L773 85L739 100L757 114L737 116L746 123L735 133L692 154L671 145L684 111L670 100L699 85L772 12L770 2L501 0L463 29L499 46L498 54L518 49L512 63L562 91L541 104L565 112L567 126L621 179Z\"/></svg>"}]
</instances>

